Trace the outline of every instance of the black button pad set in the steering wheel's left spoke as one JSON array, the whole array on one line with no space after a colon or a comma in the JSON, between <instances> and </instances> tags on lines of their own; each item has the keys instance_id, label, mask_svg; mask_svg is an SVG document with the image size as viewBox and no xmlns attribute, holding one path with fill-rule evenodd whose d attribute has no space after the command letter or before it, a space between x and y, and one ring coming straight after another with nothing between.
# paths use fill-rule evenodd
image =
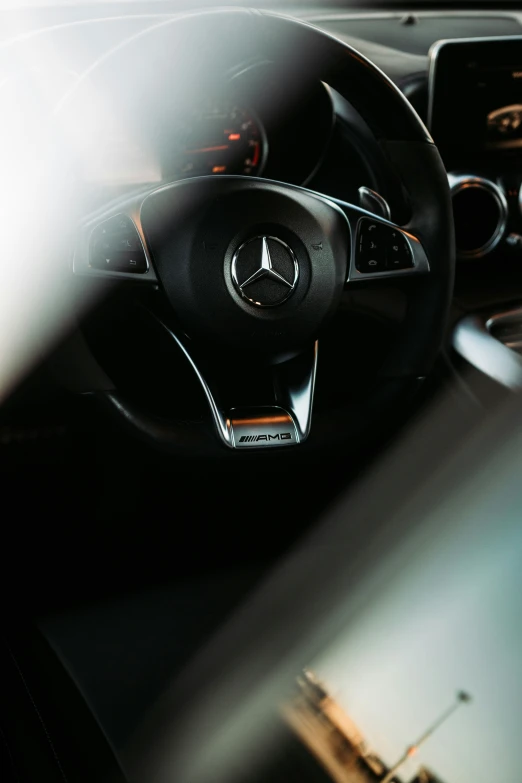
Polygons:
<instances>
[{"instance_id":1,"label":"black button pad set in the steering wheel's left spoke","mask_svg":"<svg viewBox=\"0 0 522 783\"><path fill-rule=\"evenodd\" d=\"M107 272L143 274L147 271L141 239L127 215L116 215L93 230L89 264Z\"/></svg>"}]
</instances>

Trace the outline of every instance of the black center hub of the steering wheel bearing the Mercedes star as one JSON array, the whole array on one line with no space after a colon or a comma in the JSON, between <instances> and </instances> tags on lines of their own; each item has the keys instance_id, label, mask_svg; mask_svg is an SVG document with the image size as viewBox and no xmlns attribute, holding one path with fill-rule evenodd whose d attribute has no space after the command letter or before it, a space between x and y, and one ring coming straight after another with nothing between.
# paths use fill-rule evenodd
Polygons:
<instances>
[{"instance_id":1,"label":"black center hub of the steering wheel bearing the Mercedes star","mask_svg":"<svg viewBox=\"0 0 522 783\"><path fill-rule=\"evenodd\" d=\"M335 204L248 177L198 177L152 193L142 227L186 332L278 354L315 340L341 297L350 229Z\"/></svg>"}]
</instances>

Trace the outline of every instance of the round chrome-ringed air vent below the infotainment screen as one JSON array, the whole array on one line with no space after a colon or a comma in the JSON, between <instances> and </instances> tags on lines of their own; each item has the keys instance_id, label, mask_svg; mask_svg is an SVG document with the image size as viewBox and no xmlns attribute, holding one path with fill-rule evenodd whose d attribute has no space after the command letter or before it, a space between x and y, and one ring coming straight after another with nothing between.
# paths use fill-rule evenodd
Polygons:
<instances>
[{"instance_id":1,"label":"round chrome-ringed air vent below the infotainment screen","mask_svg":"<svg viewBox=\"0 0 522 783\"><path fill-rule=\"evenodd\" d=\"M448 176L459 258L491 253L506 230L506 197L494 182L469 174Z\"/></svg>"}]
</instances>

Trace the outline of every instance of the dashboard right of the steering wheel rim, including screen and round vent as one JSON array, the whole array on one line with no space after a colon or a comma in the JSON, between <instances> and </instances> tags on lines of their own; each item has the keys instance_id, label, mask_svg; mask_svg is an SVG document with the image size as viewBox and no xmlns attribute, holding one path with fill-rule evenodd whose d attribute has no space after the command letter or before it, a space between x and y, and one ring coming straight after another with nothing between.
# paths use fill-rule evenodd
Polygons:
<instances>
[{"instance_id":1,"label":"dashboard right of the steering wheel rim, including screen and round vent","mask_svg":"<svg viewBox=\"0 0 522 783\"><path fill-rule=\"evenodd\" d=\"M372 59L428 126L448 172L459 312L522 296L522 14L317 12Z\"/></svg>"}]
</instances>

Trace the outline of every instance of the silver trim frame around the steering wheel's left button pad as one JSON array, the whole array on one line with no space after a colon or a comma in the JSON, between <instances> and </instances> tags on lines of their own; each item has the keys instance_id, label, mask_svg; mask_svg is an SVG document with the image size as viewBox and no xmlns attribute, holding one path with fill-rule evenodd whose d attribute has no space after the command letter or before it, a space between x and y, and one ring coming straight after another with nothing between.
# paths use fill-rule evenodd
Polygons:
<instances>
[{"instance_id":1,"label":"silver trim frame around the steering wheel's left button pad","mask_svg":"<svg viewBox=\"0 0 522 783\"><path fill-rule=\"evenodd\" d=\"M94 215L89 215L87 219L80 226L78 237L75 243L73 258L72 258L72 271L74 275L80 275L82 277L97 277L103 280L132 280L139 283L156 283L158 279L154 271L154 267L151 262L149 249L147 246L147 240L141 224L141 205L147 194L134 196L127 198L124 201L113 202L113 205L104 207L103 211L97 212ZM147 271L141 274L133 274L132 272L115 272L105 271L101 269L94 269L90 266L90 244L91 235L93 231L105 221L110 218L117 217L118 215L124 215L130 218L134 223L140 242L145 254L145 260L147 262Z\"/></svg>"}]
</instances>

